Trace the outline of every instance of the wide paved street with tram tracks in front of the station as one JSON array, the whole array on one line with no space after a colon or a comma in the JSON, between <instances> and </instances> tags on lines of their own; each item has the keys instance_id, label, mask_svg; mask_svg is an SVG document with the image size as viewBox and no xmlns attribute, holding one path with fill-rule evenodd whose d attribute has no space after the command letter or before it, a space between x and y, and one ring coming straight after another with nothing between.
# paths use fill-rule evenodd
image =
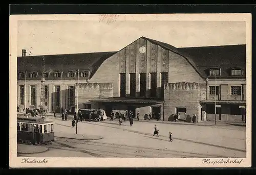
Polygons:
<instances>
[{"instance_id":1,"label":"wide paved street with tram tracks in front of the station","mask_svg":"<svg viewBox=\"0 0 256 175\"><path fill-rule=\"evenodd\" d=\"M76 132L71 120L48 117L55 122L55 131ZM160 137L153 136L154 122L118 121L78 122L78 134L100 136L86 141L55 137L49 151L39 154L19 154L28 157L245 157L246 128L239 126L193 126L159 123ZM173 142L168 133L173 133ZM42 145L44 146L44 145Z\"/></svg>"}]
</instances>

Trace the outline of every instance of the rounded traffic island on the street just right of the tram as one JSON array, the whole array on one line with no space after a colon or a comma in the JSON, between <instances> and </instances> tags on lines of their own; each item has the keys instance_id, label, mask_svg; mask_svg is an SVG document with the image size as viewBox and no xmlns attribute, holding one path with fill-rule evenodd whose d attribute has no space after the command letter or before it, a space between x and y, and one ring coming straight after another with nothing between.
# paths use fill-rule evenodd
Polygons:
<instances>
[{"instance_id":1,"label":"rounded traffic island on the street just right of the tram","mask_svg":"<svg viewBox=\"0 0 256 175\"><path fill-rule=\"evenodd\" d=\"M76 140L99 140L102 139L100 136L85 135L85 134L72 134L64 132L54 132L54 137L76 139Z\"/></svg>"}]
</instances>

